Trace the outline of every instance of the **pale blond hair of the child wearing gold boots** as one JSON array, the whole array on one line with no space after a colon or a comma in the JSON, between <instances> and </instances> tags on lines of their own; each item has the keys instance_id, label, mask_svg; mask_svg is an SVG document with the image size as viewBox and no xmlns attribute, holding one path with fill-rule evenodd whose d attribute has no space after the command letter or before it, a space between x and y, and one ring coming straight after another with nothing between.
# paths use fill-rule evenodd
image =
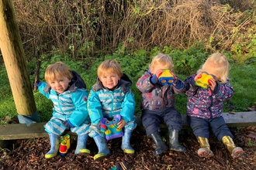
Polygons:
<instances>
[{"instance_id":1,"label":"pale blond hair of the child wearing gold boots","mask_svg":"<svg viewBox=\"0 0 256 170\"><path fill-rule=\"evenodd\" d=\"M209 63L213 63L210 65ZM230 63L227 60L227 57L224 56L222 53L213 53L206 59L206 62L202 65L201 70L205 70L206 67L214 66L214 70L216 70L217 75L220 77L220 83L226 83L227 77L229 76L230 72Z\"/></svg>"}]
</instances>

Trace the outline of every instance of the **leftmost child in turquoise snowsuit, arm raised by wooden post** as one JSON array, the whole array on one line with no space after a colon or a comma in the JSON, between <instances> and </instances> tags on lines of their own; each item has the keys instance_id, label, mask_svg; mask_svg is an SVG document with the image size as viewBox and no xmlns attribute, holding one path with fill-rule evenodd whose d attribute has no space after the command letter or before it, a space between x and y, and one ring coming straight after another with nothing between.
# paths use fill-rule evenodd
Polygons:
<instances>
[{"instance_id":1,"label":"leftmost child in turquoise snowsuit, arm raised by wooden post","mask_svg":"<svg viewBox=\"0 0 256 170\"><path fill-rule=\"evenodd\" d=\"M47 66L45 80L47 83L35 84L40 93L52 100L54 104L53 116L44 125L50 137L50 151L47 152L45 158L53 158L57 155L60 136L68 129L78 134L74 154L90 154L86 148L90 119L87 110L88 93L85 90L84 80L62 62Z\"/></svg>"}]
</instances>

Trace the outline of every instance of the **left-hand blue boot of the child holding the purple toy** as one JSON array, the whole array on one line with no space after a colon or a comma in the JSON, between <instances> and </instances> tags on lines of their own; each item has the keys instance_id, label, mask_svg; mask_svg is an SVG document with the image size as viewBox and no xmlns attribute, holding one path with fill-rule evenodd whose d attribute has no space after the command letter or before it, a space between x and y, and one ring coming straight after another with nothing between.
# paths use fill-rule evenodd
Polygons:
<instances>
[{"instance_id":1,"label":"left-hand blue boot of the child holding the purple toy","mask_svg":"<svg viewBox=\"0 0 256 170\"><path fill-rule=\"evenodd\" d=\"M93 159L95 161L99 161L100 159L102 158L105 158L107 155L110 154L110 151L109 151L109 148L108 148L108 145L106 143L106 139L103 138L102 136L100 135L96 135L95 137L93 137L98 149L99 149L99 152L98 154L96 154Z\"/></svg>"}]
</instances>

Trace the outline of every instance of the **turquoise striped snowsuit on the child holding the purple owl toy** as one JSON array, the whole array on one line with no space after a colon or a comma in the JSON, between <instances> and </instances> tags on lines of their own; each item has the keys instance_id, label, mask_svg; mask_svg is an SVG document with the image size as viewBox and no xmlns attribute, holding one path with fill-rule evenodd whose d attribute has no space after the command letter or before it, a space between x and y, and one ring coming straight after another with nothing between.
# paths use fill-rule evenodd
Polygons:
<instances>
[{"instance_id":1,"label":"turquoise striped snowsuit on the child holding the purple owl toy","mask_svg":"<svg viewBox=\"0 0 256 170\"><path fill-rule=\"evenodd\" d=\"M102 117L112 119L115 114L120 114L126 121L124 129L133 130L136 128L135 99L130 85L131 81L125 74L119 80L115 90L103 87L99 79L93 85L88 96L88 113L92 121L90 137L93 138L98 134L105 137L104 132L99 127L100 120Z\"/></svg>"}]
</instances>

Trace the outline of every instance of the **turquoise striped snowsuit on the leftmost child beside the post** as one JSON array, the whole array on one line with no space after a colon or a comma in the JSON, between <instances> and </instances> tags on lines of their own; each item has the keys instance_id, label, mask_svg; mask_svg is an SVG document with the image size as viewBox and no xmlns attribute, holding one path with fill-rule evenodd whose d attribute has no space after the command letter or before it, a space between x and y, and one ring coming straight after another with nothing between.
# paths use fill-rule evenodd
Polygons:
<instances>
[{"instance_id":1,"label":"turquoise striped snowsuit on the leftmost child beside the post","mask_svg":"<svg viewBox=\"0 0 256 170\"><path fill-rule=\"evenodd\" d=\"M70 86L64 93L57 94L47 83L41 83L38 87L40 93L54 103L53 117L44 125L47 133L63 134L67 128L63 122L69 120L74 128L71 131L81 135L89 133L90 119L88 117L87 99L88 90L85 90L85 82L78 73L72 71L73 78Z\"/></svg>"}]
</instances>

